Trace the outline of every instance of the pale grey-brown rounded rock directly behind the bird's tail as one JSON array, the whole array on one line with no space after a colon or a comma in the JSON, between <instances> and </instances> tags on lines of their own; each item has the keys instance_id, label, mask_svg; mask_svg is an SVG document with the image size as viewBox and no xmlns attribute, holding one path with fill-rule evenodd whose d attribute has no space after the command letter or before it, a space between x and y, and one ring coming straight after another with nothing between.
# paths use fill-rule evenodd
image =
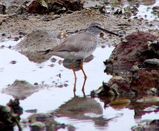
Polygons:
<instances>
[{"instance_id":1,"label":"pale grey-brown rounded rock directly behind the bird's tail","mask_svg":"<svg viewBox=\"0 0 159 131\"><path fill-rule=\"evenodd\" d=\"M48 60L52 55L42 51L53 49L58 45L57 35L51 31L35 30L15 46L14 49L28 57L29 60L41 63Z\"/></svg>"}]
</instances>

